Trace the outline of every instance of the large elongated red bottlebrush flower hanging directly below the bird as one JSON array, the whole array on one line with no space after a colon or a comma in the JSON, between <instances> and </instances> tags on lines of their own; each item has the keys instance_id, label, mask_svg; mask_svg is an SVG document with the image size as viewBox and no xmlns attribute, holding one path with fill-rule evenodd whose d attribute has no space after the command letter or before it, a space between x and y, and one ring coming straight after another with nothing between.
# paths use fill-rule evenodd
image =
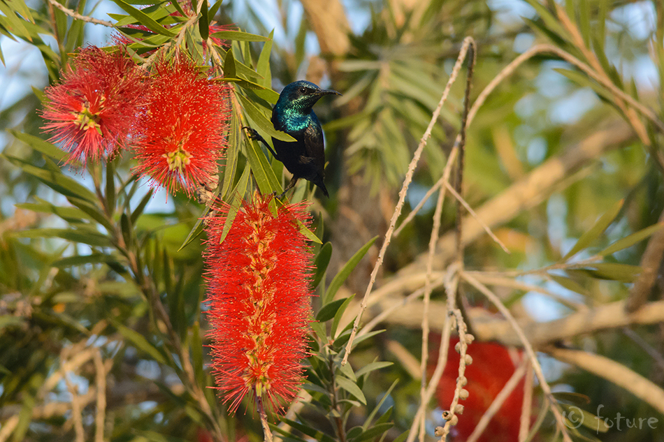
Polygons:
<instances>
[{"instance_id":1,"label":"large elongated red bottlebrush flower hanging directly below the bird","mask_svg":"<svg viewBox=\"0 0 664 442\"><path fill-rule=\"evenodd\" d=\"M222 244L229 207L208 219L212 373L234 412L245 395L274 410L296 396L310 330L310 249L299 232L303 205L270 210L272 196L244 202Z\"/></svg>"}]
</instances>

